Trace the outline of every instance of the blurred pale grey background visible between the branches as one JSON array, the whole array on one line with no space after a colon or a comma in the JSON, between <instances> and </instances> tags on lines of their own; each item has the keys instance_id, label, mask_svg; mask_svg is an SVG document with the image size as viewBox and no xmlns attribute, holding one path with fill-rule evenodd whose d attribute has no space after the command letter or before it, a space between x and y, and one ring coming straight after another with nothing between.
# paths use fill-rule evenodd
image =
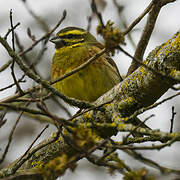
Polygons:
<instances>
[{"instance_id":1,"label":"blurred pale grey background visible between the branches","mask_svg":"<svg viewBox=\"0 0 180 180\"><path fill-rule=\"evenodd\" d=\"M148 6L150 3L149 0L117 0L116 1L120 8L121 13L119 14L117 7L114 4L113 0L97 0L98 10L101 11L104 23L108 20L111 20L115 23L115 25L120 28L122 31L125 30L124 23L129 26L133 20L135 20L143 10ZM32 40L28 37L27 29L30 28L31 34L35 36L36 39L39 39L45 34L46 26L42 26L33 16L30 11L35 13L43 22L48 25L49 29L52 29L55 24L59 21L62 17L63 10L67 11L66 19L60 25L59 29L66 27L66 26L77 26L84 29L88 27L88 18L92 16L92 11L90 7L90 1L84 0L26 0L25 2L22 0L1 0L0 1L0 35L3 36L7 33L8 29L10 28L10 20L9 14L10 9L13 12L13 24L20 22L20 26L18 26L15 32L18 35L19 41L23 44L24 49L31 46L33 43ZM90 32L96 36L96 38L103 43L101 37L97 36L96 34L96 26L98 25L98 21L95 16L92 16ZM144 58L148 55L148 53L154 49L156 46L166 42L169 38L173 36L178 30L180 30L180 1L177 0L174 3L168 4L167 6L163 7L156 26L155 30L152 34L151 40L149 45L146 49ZM131 32L131 36L133 39L129 41L126 37L126 46L124 49L128 51L130 54L134 54L135 46L138 43L140 35L142 33L143 27L146 23L146 18L143 20L133 29ZM57 32L57 31L56 31ZM11 36L8 36L8 42L11 44ZM40 49L42 49L43 44L38 44L32 51L30 51L27 56L30 62L36 62L39 57ZM47 44L47 49L44 51L43 56L41 57L41 61L38 61L36 65L36 71L44 78L49 80L49 69L51 60L54 53L54 45L50 42ZM2 46L0 46L0 67L8 62L10 59L7 55L7 52L4 50ZM126 74L127 69L131 63L131 59L126 57L123 53L119 52L113 57L116 61L119 71L121 74ZM15 73L17 78L22 76L22 72L19 68L15 67ZM9 84L13 83L13 79L11 76L10 68L6 69L3 72L0 72L0 88L6 87ZM26 78L26 83L22 84L22 88L26 89L32 87L33 82ZM0 99L13 95L15 93L16 88L10 88L5 91L0 91ZM160 100L174 94L175 92L169 90ZM58 114L61 117L68 118L68 114L63 111L59 110L58 106L53 106L53 103L50 101L49 107L53 113ZM62 102L63 103L63 102ZM72 108L69 105L63 103L63 105L68 109L71 114L74 114L77 109ZM168 101L157 108L150 110L140 118L143 120L151 114L155 114L155 117L151 118L147 125L154 129L160 129L162 131L168 131L170 129L170 119L172 116L172 106L175 107L175 111L177 115L175 117L174 122L174 132L180 130L180 98L177 97ZM18 117L18 114L15 112L10 112L6 116L7 122L0 129L0 153L3 152L4 147L7 144L7 139L9 136L9 132L14 124L15 119ZM21 156L31 144L31 142L35 139L35 137L39 134L39 132L45 127L45 124L39 123L33 120L33 118L27 118L23 116L18 124L18 127L15 130L15 134L5 159L3 165L15 160L19 156ZM53 126L50 126L43 136L39 138L38 142L42 141L43 139L50 136L56 129ZM115 138L120 138L122 135L119 135ZM37 143L38 143L37 142ZM36 144L37 144L36 143ZM127 157L125 154L120 152L120 157L126 162L134 164L134 167L142 166L142 164L138 162L132 161L131 158ZM170 168L179 168L180 169L180 156L179 156L179 145L176 143L171 147L166 147L161 151L146 151L143 154L155 160L156 162L160 163L162 166L170 167ZM152 169L153 170L153 169ZM154 171L153 171L154 172ZM154 173L157 173L156 171ZM121 179L122 176L119 173L115 173L115 175L110 176L108 171L104 168L99 168L97 166L91 165L86 160L82 160L79 163L77 170L73 173L68 171L63 176L63 179Z\"/></svg>"}]
</instances>

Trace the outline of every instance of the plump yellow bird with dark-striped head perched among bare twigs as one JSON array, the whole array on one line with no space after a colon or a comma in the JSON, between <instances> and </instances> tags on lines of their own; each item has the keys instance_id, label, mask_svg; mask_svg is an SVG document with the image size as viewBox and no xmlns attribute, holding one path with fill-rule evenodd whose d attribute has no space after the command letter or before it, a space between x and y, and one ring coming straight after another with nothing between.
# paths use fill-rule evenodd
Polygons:
<instances>
[{"instance_id":1,"label":"plump yellow bird with dark-striped head perched among bare twigs","mask_svg":"<svg viewBox=\"0 0 180 180\"><path fill-rule=\"evenodd\" d=\"M105 48L90 32L78 27L61 29L50 41L56 49L51 64L51 81L79 67ZM67 97L94 102L120 81L115 62L105 53L53 86Z\"/></svg>"}]
</instances>

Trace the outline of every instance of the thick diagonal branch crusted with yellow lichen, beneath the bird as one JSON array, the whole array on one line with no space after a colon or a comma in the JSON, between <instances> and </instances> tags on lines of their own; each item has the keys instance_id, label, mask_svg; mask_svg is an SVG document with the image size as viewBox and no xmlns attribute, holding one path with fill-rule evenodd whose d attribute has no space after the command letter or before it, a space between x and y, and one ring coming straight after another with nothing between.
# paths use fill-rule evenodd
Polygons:
<instances>
[{"instance_id":1,"label":"thick diagonal branch crusted with yellow lichen, beneath the bird","mask_svg":"<svg viewBox=\"0 0 180 180\"><path fill-rule=\"evenodd\" d=\"M145 64L162 75L153 73L144 66L139 67L120 84L95 102L95 105L107 103L102 108L104 111L98 111L98 109L91 110L75 118L73 120L74 123L81 124L83 122L93 121L94 123L102 124L103 122L113 122L115 124L114 129L117 127L116 130L123 131L124 129L124 131L131 132L134 127L132 125L126 126L126 124L121 126L124 123L123 120L136 110L153 104L170 87L180 82L180 33L175 34L172 39L153 50L149 54ZM137 131L146 135L155 133L156 136L159 136L162 134L163 137L167 136L167 139L172 139L175 136L175 134L161 133L144 128L138 128ZM105 133L107 135L107 130L105 130ZM47 142L51 143L46 144ZM39 148L40 146L43 148ZM77 157L80 152L73 149L62 138L54 142L53 137L50 137L29 152L31 156L17 173L23 173L28 170L32 172L37 171L37 174L41 174L38 171L40 167L44 166L49 160L64 155L64 153L68 158L72 158ZM16 162L9 165L8 168L2 169L0 176L10 175Z\"/></svg>"}]
</instances>

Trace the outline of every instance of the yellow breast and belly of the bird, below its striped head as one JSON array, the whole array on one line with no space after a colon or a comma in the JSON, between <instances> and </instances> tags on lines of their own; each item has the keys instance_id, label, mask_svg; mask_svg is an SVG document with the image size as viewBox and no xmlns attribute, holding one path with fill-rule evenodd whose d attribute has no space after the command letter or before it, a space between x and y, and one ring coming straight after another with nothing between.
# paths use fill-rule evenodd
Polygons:
<instances>
[{"instance_id":1,"label":"yellow breast and belly of the bird, below its striped head","mask_svg":"<svg viewBox=\"0 0 180 180\"><path fill-rule=\"evenodd\" d=\"M82 43L56 50L51 66L51 80L72 71L99 51L96 46L82 46ZM66 96L93 102L119 81L116 69L101 56L79 72L57 82L54 87Z\"/></svg>"}]
</instances>

